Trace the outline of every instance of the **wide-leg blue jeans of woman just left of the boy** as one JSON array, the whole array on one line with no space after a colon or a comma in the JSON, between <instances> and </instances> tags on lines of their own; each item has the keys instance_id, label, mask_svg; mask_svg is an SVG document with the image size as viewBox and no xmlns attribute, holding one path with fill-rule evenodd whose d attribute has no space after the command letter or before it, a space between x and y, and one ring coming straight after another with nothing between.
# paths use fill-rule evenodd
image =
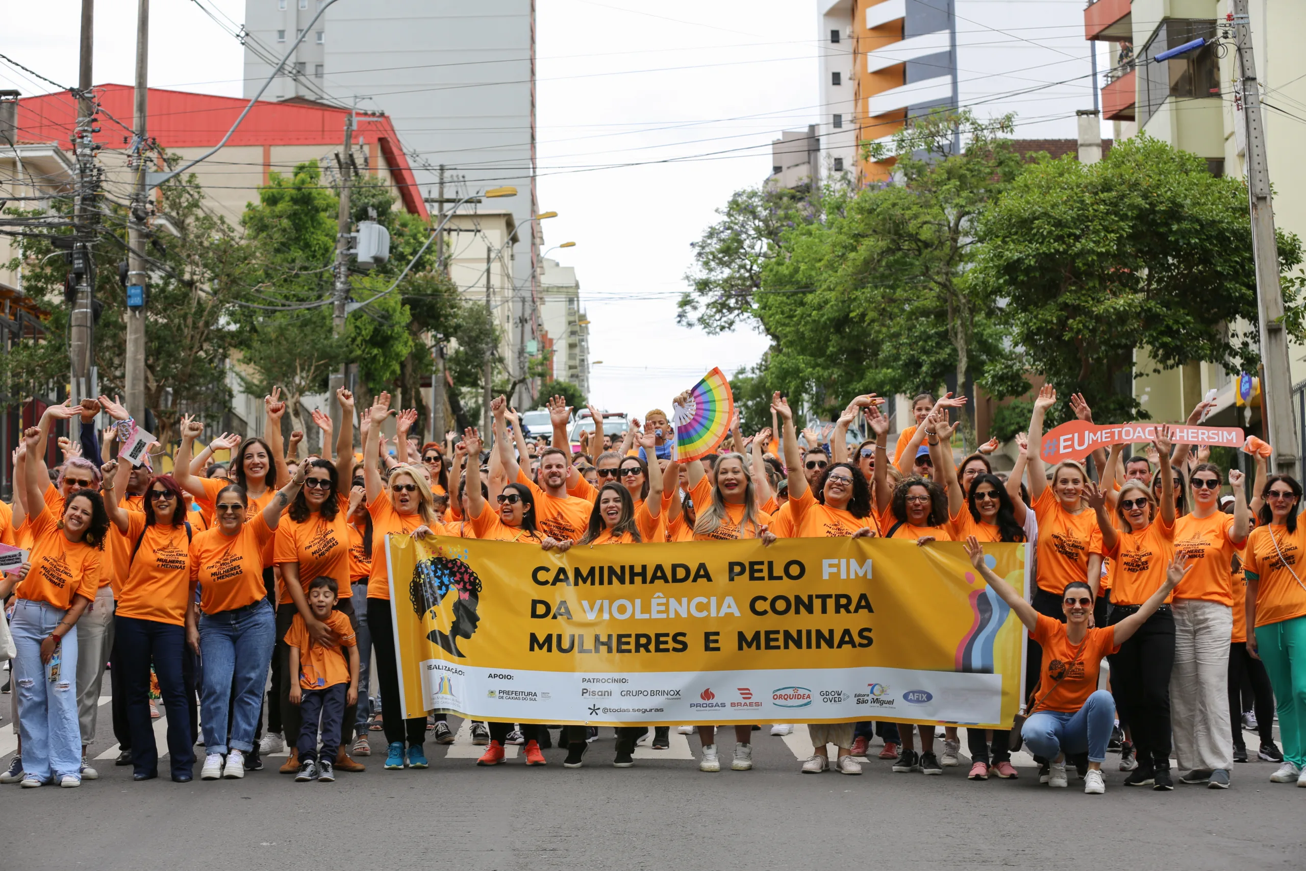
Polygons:
<instances>
[{"instance_id":1,"label":"wide-leg blue jeans of woman just left of the boy","mask_svg":"<svg viewBox=\"0 0 1306 871\"><path fill-rule=\"evenodd\" d=\"M277 618L268 599L232 611L200 615L200 656L204 657L204 691L200 716L204 746L209 753L253 750L263 688L268 683ZM227 704L231 705L231 735L227 736Z\"/></svg>"}]
</instances>

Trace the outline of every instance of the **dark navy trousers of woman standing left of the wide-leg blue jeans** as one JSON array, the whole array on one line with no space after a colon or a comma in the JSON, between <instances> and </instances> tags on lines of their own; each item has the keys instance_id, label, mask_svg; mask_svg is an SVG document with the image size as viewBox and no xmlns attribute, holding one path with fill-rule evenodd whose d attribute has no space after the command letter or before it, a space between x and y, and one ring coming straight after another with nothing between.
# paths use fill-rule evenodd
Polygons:
<instances>
[{"instance_id":1,"label":"dark navy trousers of woman standing left of the wide-leg blue jeans","mask_svg":"<svg viewBox=\"0 0 1306 871\"><path fill-rule=\"evenodd\" d=\"M185 627L133 616L116 616L114 635L123 670L127 723L132 735L132 768L137 774L158 772L159 753L150 721L150 665L159 679L167 709L167 752L174 774L189 774L195 767L191 736L191 705L187 697L183 648Z\"/></svg>"}]
</instances>

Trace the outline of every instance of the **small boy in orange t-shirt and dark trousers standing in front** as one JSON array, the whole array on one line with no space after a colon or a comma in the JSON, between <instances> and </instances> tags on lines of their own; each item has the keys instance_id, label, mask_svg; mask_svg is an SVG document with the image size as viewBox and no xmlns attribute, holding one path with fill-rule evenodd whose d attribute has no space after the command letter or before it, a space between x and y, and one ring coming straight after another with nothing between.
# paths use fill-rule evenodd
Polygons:
<instances>
[{"instance_id":1,"label":"small boy in orange t-shirt and dark trousers standing in front","mask_svg":"<svg viewBox=\"0 0 1306 871\"><path fill-rule=\"evenodd\" d=\"M290 645L290 674L299 680L290 688L290 703L299 705L299 782L332 782L332 757L341 742L345 708L358 701L358 641L349 616L332 610L338 588L325 575L308 584L308 607L313 616L334 633L334 642L323 644L308 635L308 624L296 614L286 632ZM317 759L317 731L321 721L323 747Z\"/></svg>"}]
</instances>

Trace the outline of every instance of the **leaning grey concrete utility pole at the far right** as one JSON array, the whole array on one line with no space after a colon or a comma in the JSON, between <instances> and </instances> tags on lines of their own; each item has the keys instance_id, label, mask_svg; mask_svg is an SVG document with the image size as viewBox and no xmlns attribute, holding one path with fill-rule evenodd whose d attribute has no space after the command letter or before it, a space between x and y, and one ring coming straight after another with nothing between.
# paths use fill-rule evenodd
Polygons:
<instances>
[{"instance_id":1,"label":"leaning grey concrete utility pole at the far right","mask_svg":"<svg viewBox=\"0 0 1306 871\"><path fill-rule=\"evenodd\" d=\"M1269 166L1266 135L1260 123L1260 84L1251 51L1247 0L1233 0L1228 18L1234 26L1238 76L1242 82L1242 116L1247 131L1246 174L1251 205L1251 240L1256 261L1256 304L1260 309L1260 359L1264 366L1260 415L1266 440L1275 452L1275 471L1299 478L1297 432L1292 417L1292 373L1288 366L1288 334L1284 332L1284 298L1279 289L1279 245L1275 239L1275 209L1269 196Z\"/></svg>"}]
</instances>

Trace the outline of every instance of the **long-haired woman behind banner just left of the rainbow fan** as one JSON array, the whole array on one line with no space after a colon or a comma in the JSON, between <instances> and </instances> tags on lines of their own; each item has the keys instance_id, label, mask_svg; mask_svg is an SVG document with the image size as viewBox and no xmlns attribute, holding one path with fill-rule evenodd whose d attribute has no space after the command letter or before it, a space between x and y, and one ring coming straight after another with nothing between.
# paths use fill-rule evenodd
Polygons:
<instances>
[{"instance_id":1,"label":"long-haired woman behind banner just left of the rainbow fan","mask_svg":"<svg viewBox=\"0 0 1306 871\"><path fill-rule=\"evenodd\" d=\"M636 447L644 448L648 456L653 456L657 447L657 436L652 432L641 432L635 436ZM619 483L606 483L598 491L594 508L589 513L589 528L581 535L577 546L593 547L596 545L637 545L640 542L663 541L662 526L662 490L665 482L675 482L679 478L679 465L673 461L662 474L649 475L648 498L635 507L631 491ZM542 543L545 550L565 552L572 546L571 542L559 542L546 538ZM567 726L563 730L567 742L567 759L564 768L580 768L585 751L589 750L585 726ZM618 726L616 727L616 756L613 759L614 768L629 768L635 764L635 742L648 733L648 726Z\"/></svg>"}]
</instances>

